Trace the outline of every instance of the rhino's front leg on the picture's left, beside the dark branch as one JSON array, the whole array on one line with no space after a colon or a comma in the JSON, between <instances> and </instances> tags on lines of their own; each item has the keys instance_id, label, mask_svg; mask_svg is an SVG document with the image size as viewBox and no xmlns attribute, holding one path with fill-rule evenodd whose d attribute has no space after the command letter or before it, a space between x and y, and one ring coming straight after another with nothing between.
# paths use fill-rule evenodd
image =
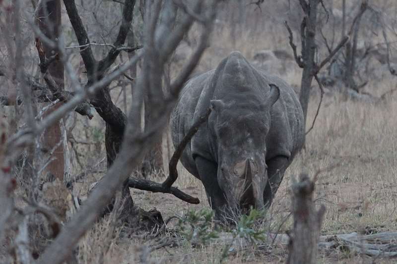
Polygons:
<instances>
[{"instance_id":1,"label":"rhino's front leg on the picture's left, beside the dark branch","mask_svg":"<svg viewBox=\"0 0 397 264\"><path fill-rule=\"evenodd\" d=\"M220 216L226 206L226 199L218 184L218 164L201 157L196 157L195 162L207 194L208 203L215 210L216 215Z\"/></svg>"}]
</instances>

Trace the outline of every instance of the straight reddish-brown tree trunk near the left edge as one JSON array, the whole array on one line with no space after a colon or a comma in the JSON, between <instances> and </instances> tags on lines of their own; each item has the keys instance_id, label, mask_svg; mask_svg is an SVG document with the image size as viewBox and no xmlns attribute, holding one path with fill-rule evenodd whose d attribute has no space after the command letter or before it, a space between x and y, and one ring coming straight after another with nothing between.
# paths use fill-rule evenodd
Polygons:
<instances>
[{"instance_id":1,"label":"straight reddish-brown tree trunk near the left edge","mask_svg":"<svg viewBox=\"0 0 397 264\"><path fill-rule=\"evenodd\" d=\"M61 1L60 0L47 0L41 1L36 14L37 23L42 32L55 43L58 43L61 29ZM55 83L54 89L58 91L65 90L65 67L60 57L58 50L51 48L45 42L40 40L36 43L36 48L40 57L40 66L44 76L49 74L49 77L44 77L46 82L49 79ZM47 64L43 67L43 64ZM56 111L64 103L57 103L50 108L45 117ZM69 192L64 184L65 175L65 157L64 157L64 144L63 137L66 134L64 126L61 125L63 120L55 122L52 126L44 131L43 148L46 153L52 155L54 158L45 168L46 180L53 181L43 186L44 199L46 203L53 206L58 215L66 220L67 197ZM64 130L64 131L62 131ZM46 154L44 153L44 154ZM61 202L62 201L62 202Z\"/></svg>"}]
</instances>

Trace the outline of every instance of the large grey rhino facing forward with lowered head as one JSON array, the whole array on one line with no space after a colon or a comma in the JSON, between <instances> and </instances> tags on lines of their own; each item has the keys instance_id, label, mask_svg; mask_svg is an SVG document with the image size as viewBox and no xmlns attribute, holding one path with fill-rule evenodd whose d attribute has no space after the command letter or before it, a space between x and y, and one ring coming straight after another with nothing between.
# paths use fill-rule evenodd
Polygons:
<instances>
[{"instance_id":1,"label":"large grey rhino facing forward with lowered head","mask_svg":"<svg viewBox=\"0 0 397 264\"><path fill-rule=\"evenodd\" d=\"M217 215L227 205L268 207L303 144L303 112L295 92L233 52L185 85L171 116L174 146L210 106L182 164L202 181Z\"/></svg>"}]
</instances>

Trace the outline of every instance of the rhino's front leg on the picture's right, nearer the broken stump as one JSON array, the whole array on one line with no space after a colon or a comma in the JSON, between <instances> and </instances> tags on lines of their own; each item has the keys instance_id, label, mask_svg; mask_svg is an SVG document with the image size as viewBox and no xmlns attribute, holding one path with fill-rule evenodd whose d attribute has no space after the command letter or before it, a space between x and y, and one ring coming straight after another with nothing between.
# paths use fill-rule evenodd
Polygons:
<instances>
[{"instance_id":1,"label":"rhino's front leg on the picture's right, nearer the broken stump","mask_svg":"<svg viewBox=\"0 0 397 264\"><path fill-rule=\"evenodd\" d=\"M269 208L284 177L285 170L288 167L288 158L285 156L276 156L267 160L266 164L269 180L265 187L264 203L265 208Z\"/></svg>"}]
</instances>

